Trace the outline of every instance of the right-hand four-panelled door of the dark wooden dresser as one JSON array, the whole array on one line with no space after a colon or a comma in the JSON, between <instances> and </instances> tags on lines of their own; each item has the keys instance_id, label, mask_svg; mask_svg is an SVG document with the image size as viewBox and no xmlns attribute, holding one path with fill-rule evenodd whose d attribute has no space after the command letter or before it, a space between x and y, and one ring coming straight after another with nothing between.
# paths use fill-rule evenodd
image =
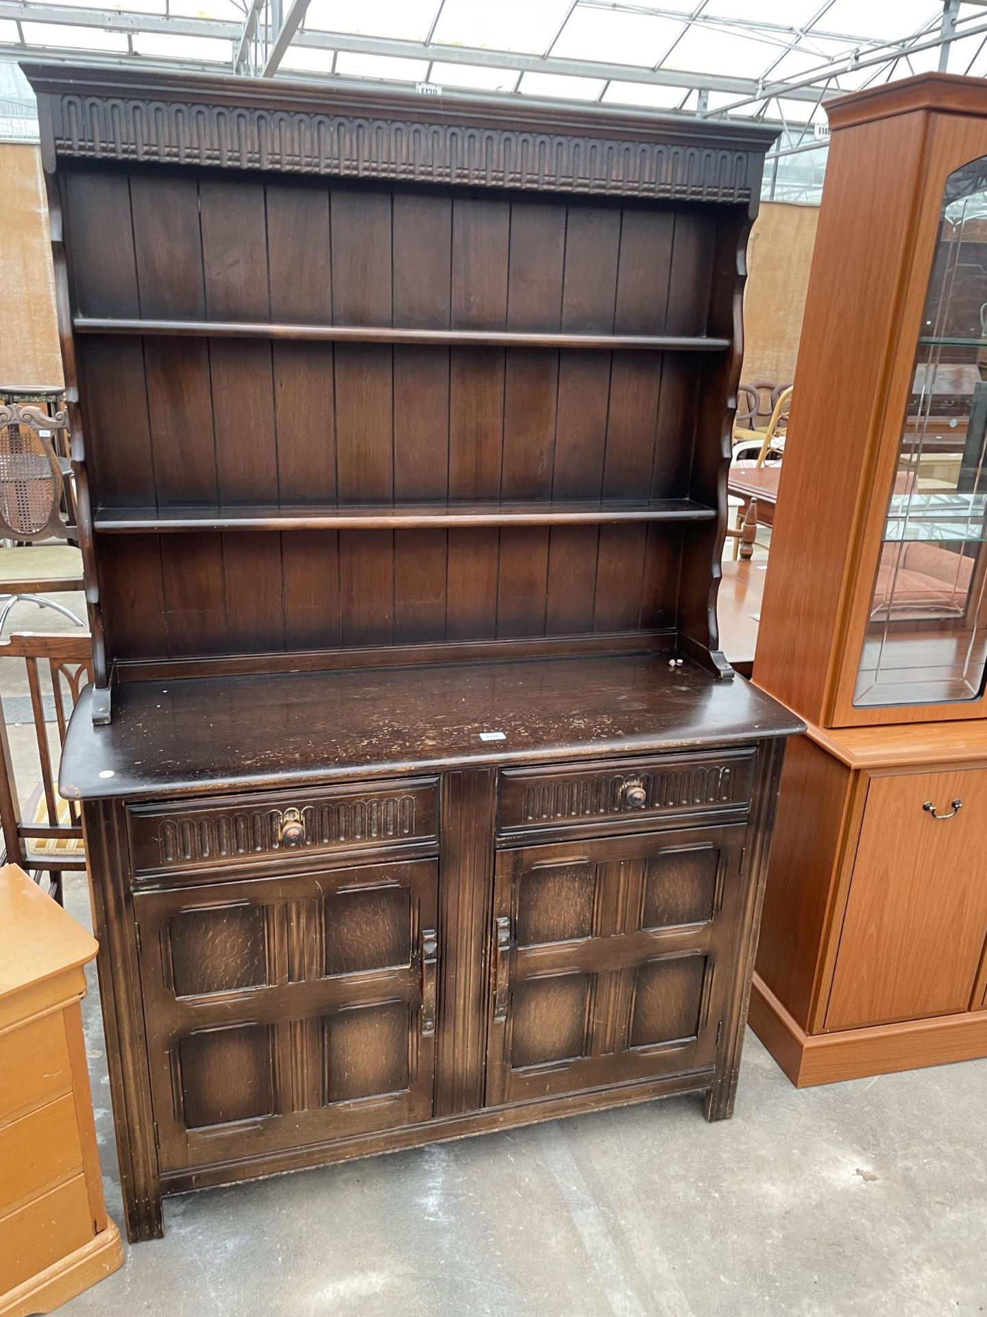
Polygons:
<instances>
[{"instance_id":1,"label":"right-hand four-panelled door of the dark wooden dresser","mask_svg":"<svg viewBox=\"0 0 987 1317\"><path fill-rule=\"evenodd\" d=\"M744 831L500 852L488 1106L713 1065Z\"/></svg>"}]
</instances>

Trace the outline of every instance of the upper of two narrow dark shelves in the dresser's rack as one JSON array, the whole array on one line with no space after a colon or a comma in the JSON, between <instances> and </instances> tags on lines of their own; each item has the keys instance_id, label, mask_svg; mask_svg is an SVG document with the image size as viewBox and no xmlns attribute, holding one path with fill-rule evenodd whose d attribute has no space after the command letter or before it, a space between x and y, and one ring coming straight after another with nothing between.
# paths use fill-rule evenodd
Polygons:
<instances>
[{"instance_id":1,"label":"upper of two narrow dark shelves in the dresser's rack","mask_svg":"<svg viewBox=\"0 0 987 1317\"><path fill-rule=\"evenodd\" d=\"M76 316L76 333L166 335L184 338L300 338L322 342L411 344L436 348L604 348L725 352L729 338L686 335L528 333L511 329L397 329L391 325L293 325L238 320L117 320Z\"/></svg>"}]
</instances>

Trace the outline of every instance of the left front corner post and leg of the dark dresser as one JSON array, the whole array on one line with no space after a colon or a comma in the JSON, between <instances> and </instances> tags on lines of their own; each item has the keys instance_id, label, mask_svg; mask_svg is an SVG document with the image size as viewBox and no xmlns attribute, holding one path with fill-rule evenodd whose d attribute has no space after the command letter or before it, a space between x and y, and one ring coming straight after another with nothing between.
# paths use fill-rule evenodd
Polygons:
<instances>
[{"instance_id":1,"label":"left front corner post and leg of the dark dresser","mask_svg":"<svg viewBox=\"0 0 987 1317\"><path fill-rule=\"evenodd\" d=\"M83 830L126 1238L138 1243L164 1227L122 805L87 802Z\"/></svg>"}]
</instances>

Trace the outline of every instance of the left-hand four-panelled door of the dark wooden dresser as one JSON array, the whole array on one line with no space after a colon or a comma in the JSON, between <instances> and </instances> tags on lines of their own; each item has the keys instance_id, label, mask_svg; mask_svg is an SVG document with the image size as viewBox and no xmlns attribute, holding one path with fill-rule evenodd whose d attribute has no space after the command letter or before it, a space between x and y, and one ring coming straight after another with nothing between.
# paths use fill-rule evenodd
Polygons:
<instances>
[{"instance_id":1,"label":"left-hand four-panelled door of the dark wooden dresser","mask_svg":"<svg viewBox=\"0 0 987 1317\"><path fill-rule=\"evenodd\" d=\"M434 860L134 897L163 1171L432 1114Z\"/></svg>"}]
</instances>

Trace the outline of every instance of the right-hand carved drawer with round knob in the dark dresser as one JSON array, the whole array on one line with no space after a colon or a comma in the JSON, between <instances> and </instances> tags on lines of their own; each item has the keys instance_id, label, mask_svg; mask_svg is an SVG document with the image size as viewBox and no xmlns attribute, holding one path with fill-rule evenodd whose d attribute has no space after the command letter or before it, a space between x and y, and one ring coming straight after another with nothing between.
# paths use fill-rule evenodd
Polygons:
<instances>
[{"instance_id":1,"label":"right-hand carved drawer with round knob in the dark dresser","mask_svg":"<svg viewBox=\"0 0 987 1317\"><path fill-rule=\"evenodd\" d=\"M508 768L500 774L497 834L586 832L638 827L647 819L746 817L754 751L651 755L612 764Z\"/></svg>"}]
</instances>

